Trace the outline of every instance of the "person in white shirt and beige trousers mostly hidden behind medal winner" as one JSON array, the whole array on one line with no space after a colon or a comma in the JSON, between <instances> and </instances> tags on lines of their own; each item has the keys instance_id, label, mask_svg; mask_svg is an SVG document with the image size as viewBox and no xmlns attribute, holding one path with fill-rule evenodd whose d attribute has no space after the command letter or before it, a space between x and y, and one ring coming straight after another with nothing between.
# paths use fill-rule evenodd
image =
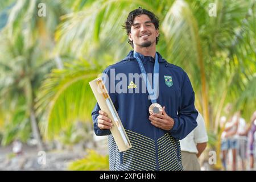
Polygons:
<instances>
[{"instance_id":1,"label":"person in white shirt and beige trousers mostly hidden behind medal winner","mask_svg":"<svg viewBox=\"0 0 256 182\"><path fill-rule=\"evenodd\" d=\"M207 147L207 131L204 118L200 113L196 121L197 127L187 137L180 140L181 159L185 171L201 170L198 158Z\"/></svg>"}]
</instances>

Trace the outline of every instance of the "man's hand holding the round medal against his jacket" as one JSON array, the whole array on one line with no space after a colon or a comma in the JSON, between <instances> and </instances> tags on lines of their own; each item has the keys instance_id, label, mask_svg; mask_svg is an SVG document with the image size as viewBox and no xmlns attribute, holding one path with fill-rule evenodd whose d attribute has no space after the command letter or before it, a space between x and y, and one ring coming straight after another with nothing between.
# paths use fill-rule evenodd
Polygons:
<instances>
[{"instance_id":1,"label":"man's hand holding the round medal against his jacket","mask_svg":"<svg viewBox=\"0 0 256 182\"><path fill-rule=\"evenodd\" d=\"M163 130L171 130L174 127L174 119L167 115L166 111L164 110L165 106L163 107L163 114L152 114L148 118L151 121L151 124L155 127L159 127Z\"/></svg>"}]
</instances>

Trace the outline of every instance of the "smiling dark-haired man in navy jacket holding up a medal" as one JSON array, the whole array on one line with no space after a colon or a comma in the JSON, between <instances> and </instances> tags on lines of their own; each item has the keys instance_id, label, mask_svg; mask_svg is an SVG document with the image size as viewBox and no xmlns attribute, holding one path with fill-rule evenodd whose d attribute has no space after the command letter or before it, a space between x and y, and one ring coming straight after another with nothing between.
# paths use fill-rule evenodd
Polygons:
<instances>
[{"instance_id":1,"label":"smiling dark-haired man in navy jacket holding up a medal","mask_svg":"<svg viewBox=\"0 0 256 182\"><path fill-rule=\"evenodd\" d=\"M191 82L181 68L167 63L156 52L159 20L153 13L141 8L131 11L125 28L134 51L106 68L104 78L133 147L118 151L109 130L112 121L98 104L92 111L94 131L96 135L109 135L110 170L182 170L179 139L197 126ZM113 71L119 75L117 80L122 76L125 86L113 80ZM152 84L145 72L154 73ZM135 77L129 77L131 73ZM141 81L136 75L142 75ZM146 85L147 92L143 92ZM111 88L115 88L114 93Z\"/></svg>"}]
</instances>

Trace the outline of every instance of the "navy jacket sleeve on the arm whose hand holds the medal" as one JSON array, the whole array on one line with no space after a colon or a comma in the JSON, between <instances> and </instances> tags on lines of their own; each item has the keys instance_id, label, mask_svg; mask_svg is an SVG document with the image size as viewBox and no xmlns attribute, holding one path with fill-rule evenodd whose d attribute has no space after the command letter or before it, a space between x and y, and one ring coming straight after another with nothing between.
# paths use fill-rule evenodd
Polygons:
<instances>
[{"instance_id":1,"label":"navy jacket sleeve on the arm whose hand holds the medal","mask_svg":"<svg viewBox=\"0 0 256 182\"><path fill-rule=\"evenodd\" d=\"M178 114L173 118L174 127L170 130L172 137L183 139L197 126L196 118L198 115L195 109L195 93L187 73L183 72L181 84L181 99Z\"/></svg>"}]
</instances>

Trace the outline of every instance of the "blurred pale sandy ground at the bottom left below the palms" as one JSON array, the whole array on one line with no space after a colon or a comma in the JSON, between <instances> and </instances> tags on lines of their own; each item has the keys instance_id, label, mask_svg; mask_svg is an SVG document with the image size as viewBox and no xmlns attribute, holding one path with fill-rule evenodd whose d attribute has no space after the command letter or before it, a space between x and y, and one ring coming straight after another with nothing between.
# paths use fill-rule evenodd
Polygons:
<instances>
[{"instance_id":1,"label":"blurred pale sandy ground at the bottom left below the palms","mask_svg":"<svg viewBox=\"0 0 256 182\"><path fill-rule=\"evenodd\" d=\"M108 154L106 139L99 140L97 146L88 144L86 148L100 154ZM86 156L86 148L81 144L68 150L39 151L35 146L23 144L22 154L15 155L13 146L0 147L0 170L67 170L70 162Z\"/></svg>"}]
</instances>

